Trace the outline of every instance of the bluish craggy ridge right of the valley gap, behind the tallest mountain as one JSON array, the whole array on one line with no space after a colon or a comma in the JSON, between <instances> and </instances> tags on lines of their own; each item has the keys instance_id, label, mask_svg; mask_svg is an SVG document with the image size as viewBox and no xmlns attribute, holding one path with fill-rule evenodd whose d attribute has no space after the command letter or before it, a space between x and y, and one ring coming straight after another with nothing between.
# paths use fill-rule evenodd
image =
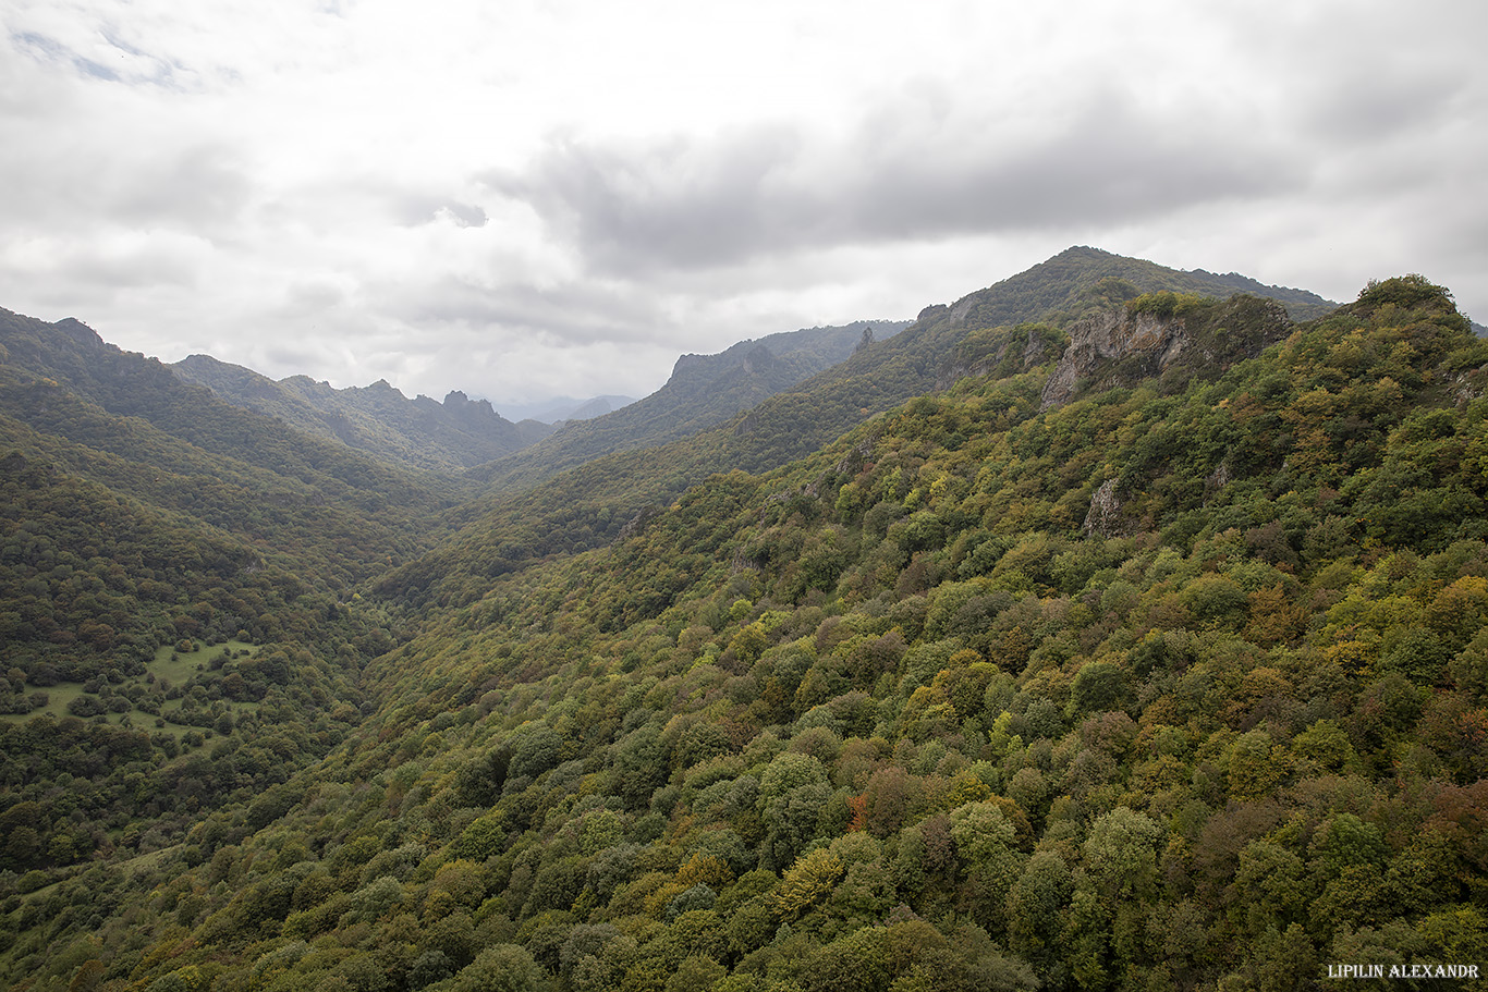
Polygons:
<instances>
[{"instance_id":1,"label":"bluish craggy ridge right of the valley gap, behind the tallest mountain","mask_svg":"<svg viewBox=\"0 0 1488 992\"><path fill-rule=\"evenodd\" d=\"M667 384L619 410L567 422L531 449L470 471L497 489L531 486L564 468L634 448L653 448L716 427L884 339L908 321L854 321L741 341L716 355L682 355Z\"/></svg>"}]
</instances>

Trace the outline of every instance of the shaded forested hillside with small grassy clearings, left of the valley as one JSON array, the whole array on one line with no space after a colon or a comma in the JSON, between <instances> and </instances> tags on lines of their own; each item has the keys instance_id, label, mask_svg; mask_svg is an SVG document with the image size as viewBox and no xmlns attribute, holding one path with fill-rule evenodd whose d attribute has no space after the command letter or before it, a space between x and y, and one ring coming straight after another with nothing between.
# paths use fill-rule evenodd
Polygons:
<instances>
[{"instance_id":1,"label":"shaded forested hillside with small grassy clearings, left of the valley","mask_svg":"<svg viewBox=\"0 0 1488 992\"><path fill-rule=\"evenodd\" d=\"M0 314L0 876L177 843L360 721L357 589L454 480L296 434L76 321ZM25 888L22 885L22 888Z\"/></svg>"}]
</instances>

